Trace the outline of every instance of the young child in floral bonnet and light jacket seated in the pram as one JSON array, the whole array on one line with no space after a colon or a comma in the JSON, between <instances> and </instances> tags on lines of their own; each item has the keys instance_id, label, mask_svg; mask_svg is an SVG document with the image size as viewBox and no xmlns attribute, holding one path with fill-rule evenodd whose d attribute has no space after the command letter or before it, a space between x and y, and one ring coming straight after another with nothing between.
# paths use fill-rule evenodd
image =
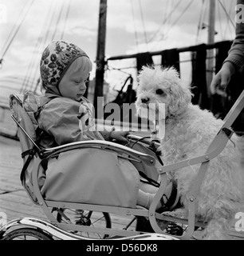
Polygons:
<instances>
[{"instance_id":1,"label":"young child in floral bonnet and light jacket seated in the pram","mask_svg":"<svg viewBox=\"0 0 244 256\"><path fill-rule=\"evenodd\" d=\"M92 110L83 95L92 62L84 50L64 41L51 42L42 54L40 69L42 89L45 90L37 117L39 128L45 131L41 146L47 148L92 139L127 142L127 131L98 132L91 129L95 127ZM149 208L157 190L141 183L137 204ZM171 190L172 184L169 184L167 198ZM164 199L157 209L164 205Z\"/></svg>"}]
</instances>

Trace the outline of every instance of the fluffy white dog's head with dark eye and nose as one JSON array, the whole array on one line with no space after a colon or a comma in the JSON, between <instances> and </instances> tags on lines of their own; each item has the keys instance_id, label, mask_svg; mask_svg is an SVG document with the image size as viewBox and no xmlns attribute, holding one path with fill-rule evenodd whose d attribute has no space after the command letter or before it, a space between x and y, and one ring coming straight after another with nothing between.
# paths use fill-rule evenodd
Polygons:
<instances>
[{"instance_id":1,"label":"fluffy white dog's head with dark eye and nose","mask_svg":"<svg viewBox=\"0 0 244 256\"><path fill-rule=\"evenodd\" d=\"M164 113L160 113L163 104L159 104L164 103L165 117L177 116L191 102L191 96L191 90L183 84L175 68L144 66L139 74L136 91L137 114L154 122L155 114L156 117L164 116Z\"/></svg>"}]
</instances>

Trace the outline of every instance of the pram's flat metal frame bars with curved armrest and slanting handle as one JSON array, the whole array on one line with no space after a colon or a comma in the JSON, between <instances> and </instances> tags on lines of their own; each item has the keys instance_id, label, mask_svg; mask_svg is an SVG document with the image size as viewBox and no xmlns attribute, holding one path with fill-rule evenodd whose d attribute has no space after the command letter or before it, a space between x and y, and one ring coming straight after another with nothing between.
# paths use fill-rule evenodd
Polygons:
<instances>
[{"instance_id":1,"label":"pram's flat metal frame bars with curved armrest and slanting handle","mask_svg":"<svg viewBox=\"0 0 244 256\"><path fill-rule=\"evenodd\" d=\"M228 142L228 140L231 138L231 136L233 134L233 131L230 129L230 126L233 124L234 120L238 117L238 114L240 114L240 112L242 111L243 108L244 108L244 91L242 91L242 94L240 94L240 96L238 97L238 100L234 103L234 106L232 106L229 113L226 115L226 118L224 118L224 124L223 124L222 128L219 130L219 132L216 135L216 137L214 138L214 140L211 142L211 145L207 148L206 154L197 156L195 158L189 158L182 162L176 162L171 165L160 166L157 169L159 175L161 176L161 183L159 186L159 190L155 194L155 198L153 199L152 205L150 206L149 210L124 208L124 207L116 207L116 206L100 206L100 205L92 205L92 204L90 205L90 204L82 204L82 203L75 203L75 202L53 202L53 201L45 200L42 197L41 190L39 189L38 180L37 180L38 169L39 169L38 166L41 163L41 159L47 155L50 156L52 154L57 154L58 152L61 152L62 150L68 150L68 148L69 148L69 150L71 150L71 149L75 149L75 148L81 148L83 146L86 146L86 147L102 146L103 149L122 150L123 152L126 152L128 155L130 155L136 161L145 161L146 159L148 159L149 162L152 161L151 162L152 164L155 162L155 159L152 156L149 156L147 154L142 154L136 150L125 149L124 146L116 145L116 143L113 143L113 142L102 142L102 141L74 142L74 143L69 143L65 146L58 146L53 149L40 150L39 154L37 155L37 159L35 160L33 173L32 173L33 190L34 190L35 196L37 197L37 201L38 201L39 205L41 206L41 209L44 211L45 215L49 218L49 221L52 222L55 226L61 228L62 230L98 232L100 234L111 234L111 235L117 235L117 236L122 236L122 237L138 235L138 234L144 233L144 232L140 232L140 231L99 229L99 228L93 228L90 226L77 226L77 225L71 225L71 224L62 224L62 223L57 222L57 219L54 218L53 214L49 210L50 207L95 210L98 212L108 212L111 214L144 216L144 217L149 218L149 221L150 221L155 233L162 233L162 234L165 234L165 233L159 228L159 226L156 222L156 219L169 221L169 222L183 223L183 224L188 225L186 234L183 234L182 236L175 236L175 238L190 239L195 230L195 226L203 226L204 227L207 224L207 223L199 222L195 218L195 199L198 197L199 189L203 182L204 175L207 172L209 162L211 161L211 159L215 158L218 154L220 154L222 152L222 150L225 148L226 143ZM18 124L18 120L15 119L14 121L17 122L17 124ZM18 124L18 127L20 127L19 124ZM23 127L20 127L20 129L24 130ZM191 193L190 193L189 202L188 202L188 205L189 205L188 218L187 219L179 219L179 218L173 218L173 217L169 217L169 216L163 216L162 214L157 214L155 212L155 208L156 208L157 204L159 203L159 200L162 197L163 192L166 188L167 178L165 178L165 177L167 175L167 172L169 172L169 171L172 172L172 171L181 169L183 167L186 167L189 165L192 166L195 164L201 164L201 166L199 168L199 173L195 178L194 186L192 186L192 188L191 188Z\"/></svg>"}]
</instances>

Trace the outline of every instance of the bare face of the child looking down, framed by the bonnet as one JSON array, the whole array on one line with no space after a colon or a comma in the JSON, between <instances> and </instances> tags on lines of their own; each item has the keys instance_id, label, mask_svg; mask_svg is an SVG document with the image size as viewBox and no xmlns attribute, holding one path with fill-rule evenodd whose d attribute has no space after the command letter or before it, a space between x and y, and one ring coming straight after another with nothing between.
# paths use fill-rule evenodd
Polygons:
<instances>
[{"instance_id":1,"label":"bare face of the child looking down, framed by the bonnet","mask_svg":"<svg viewBox=\"0 0 244 256\"><path fill-rule=\"evenodd\" d=\"M63 97L72 98L75 101L80 101L81 96L85 94L85 82L89 78L89 72L77 71L74 73L65 73L59 83L59 90Z\"/></svg>"}]
</instances>

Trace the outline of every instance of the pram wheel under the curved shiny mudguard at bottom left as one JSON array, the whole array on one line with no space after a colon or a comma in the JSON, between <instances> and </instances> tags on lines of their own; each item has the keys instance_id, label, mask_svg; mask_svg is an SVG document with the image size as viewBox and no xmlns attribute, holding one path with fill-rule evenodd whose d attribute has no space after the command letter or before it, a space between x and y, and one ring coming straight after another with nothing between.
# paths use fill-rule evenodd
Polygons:
<instances>
[{"instance_id":1,"label":"pram wheel under the curved shiny mudguard at bottom left","mask_svg":"<svg viewBox=\"0 0 244 256\"><path fill-rule=\"evenodd\" d=\"M10 231L2 240L53 240L53 238L41 230L22 228Z\"/></svg>"}]
</instances>

